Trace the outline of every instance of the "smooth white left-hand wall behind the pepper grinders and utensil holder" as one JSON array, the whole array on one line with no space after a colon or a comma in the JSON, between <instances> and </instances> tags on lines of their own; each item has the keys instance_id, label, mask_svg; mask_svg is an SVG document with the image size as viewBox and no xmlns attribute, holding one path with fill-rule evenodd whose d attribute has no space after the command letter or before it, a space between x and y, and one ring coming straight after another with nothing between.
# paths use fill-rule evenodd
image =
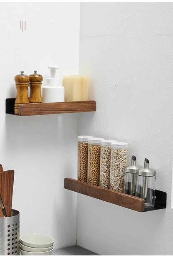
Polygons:
<instances>
[{"instance_id":1,"label":"smooth white left-hand wall behind the pepper grinders and utensil holder","mask_svg":"<svg viewBox=\"0 0 173 256\"><path fill-rule=\"evenodd\" d=\"M15 170L12 207L20 233L44 233L54 248L76 243L76 194L64 177L76 177L78 114L16 117L5 99L16 96L14 77L59 65L59 76L79 73L80 3L0 3L0 163ZM20 30L26 20L26 31Z\"/></svg>"}]
</instances>

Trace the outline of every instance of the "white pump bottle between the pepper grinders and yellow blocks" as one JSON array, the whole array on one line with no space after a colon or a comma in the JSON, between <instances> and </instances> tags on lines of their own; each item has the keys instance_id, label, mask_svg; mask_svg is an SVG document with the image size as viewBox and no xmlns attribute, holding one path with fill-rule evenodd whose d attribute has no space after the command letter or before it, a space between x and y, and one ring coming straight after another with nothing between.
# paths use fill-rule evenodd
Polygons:
<instances>
[{"instance_id":1,"label":"white pump bottle between the pepper grinders and yellow blocks","mask_svg":"<svg viewBox=\"0 0 173 256\"><path fill-rule=\"evenodd\" d=\"M48 66L50 68L50 78L47 78L47 86L42 86L43 102L63 102L64 86L60 86L60 79L56 78L58 66Z\"/></svg>"}]
</instances>

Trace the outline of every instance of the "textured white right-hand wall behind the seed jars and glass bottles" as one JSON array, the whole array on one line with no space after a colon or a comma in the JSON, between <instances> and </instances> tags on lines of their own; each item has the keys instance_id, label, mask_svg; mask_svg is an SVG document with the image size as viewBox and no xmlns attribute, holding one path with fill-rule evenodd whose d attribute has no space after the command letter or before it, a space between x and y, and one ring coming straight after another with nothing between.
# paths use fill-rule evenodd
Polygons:
<instances>
[{"instance_id":1,"label":"textured white right-hand wall behind the seed jars and glass bottles","mask_svg":"<svg viewBox=\"0 0 173 256\"><path fill-rule=\"evenodd\" d=\"M77 195L77 244L99 254L173 254L172 24L173 3L81 3L79 73L96 112L79 114L78 134L128 142L168 193L146 213Z\"/></svg>"}]
</instances>

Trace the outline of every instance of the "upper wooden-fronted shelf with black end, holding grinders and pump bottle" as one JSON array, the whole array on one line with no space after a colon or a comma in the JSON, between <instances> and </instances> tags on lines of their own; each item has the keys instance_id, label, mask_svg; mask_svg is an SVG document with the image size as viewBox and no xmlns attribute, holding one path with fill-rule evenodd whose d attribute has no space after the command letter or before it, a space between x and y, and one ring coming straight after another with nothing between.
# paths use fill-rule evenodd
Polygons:
<instances>
[{"instance_id":1,"label":"upper wooden-fronted shelf with black end, holding grinders and pump bottle","mask_svg":"<svg viewBox=\"0 0 173 256\"><path fill-rule=\"evenodd\" d=\"M6 114L14 115L15 98L6 99ZM96 111L96 101L69 101L54 103L29 103L19 105L19 116L64 114ZM15 115L17 116L17 115Z\"/></svg>"}]
</instances>

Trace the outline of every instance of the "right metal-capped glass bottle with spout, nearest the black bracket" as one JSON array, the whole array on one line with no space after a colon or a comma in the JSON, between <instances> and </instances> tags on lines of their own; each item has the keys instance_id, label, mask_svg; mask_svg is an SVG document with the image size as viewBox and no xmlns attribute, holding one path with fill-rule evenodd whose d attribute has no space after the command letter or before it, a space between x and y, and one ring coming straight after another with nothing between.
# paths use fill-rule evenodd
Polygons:
<instances>
[{"instance_id":1,"label":"right metal-capped glass bottle with spout, nearest the black bracket","mask_svg":"<svg viewBox=\"0 0 173 256\"><path fill-rule=\"evenodd\" d=\"M137 170L136 196L145 200L145 207L154 206L156 171L149 168L149 160L145 158L144 168Z\"/></svg>"}]
</instances>

